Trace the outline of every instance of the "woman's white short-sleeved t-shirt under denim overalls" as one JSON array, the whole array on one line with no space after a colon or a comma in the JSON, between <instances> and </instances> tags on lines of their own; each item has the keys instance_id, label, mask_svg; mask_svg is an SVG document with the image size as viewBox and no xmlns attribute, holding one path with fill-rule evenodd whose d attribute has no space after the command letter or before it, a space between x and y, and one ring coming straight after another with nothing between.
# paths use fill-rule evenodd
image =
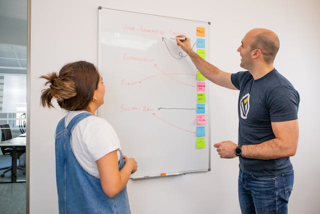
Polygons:
<instances>
[{"instance_id":1,"label":"woman's white short-sleeved t-shirt under denim overalls","mask_svg":"<svg viewBox=\"0 0 320 214\"><path fill-rule=\"evenodd\" d=\"M83 112L86 111L69 111L65 116L65 126L73 117ZM112 126L96 116L88 116L74 126L71 147L82 168L97 178L100 176L95 161L111 151L121 149L119 138ZM117 154L119 159L118 151Z\"/></svg>"}]
</instances>

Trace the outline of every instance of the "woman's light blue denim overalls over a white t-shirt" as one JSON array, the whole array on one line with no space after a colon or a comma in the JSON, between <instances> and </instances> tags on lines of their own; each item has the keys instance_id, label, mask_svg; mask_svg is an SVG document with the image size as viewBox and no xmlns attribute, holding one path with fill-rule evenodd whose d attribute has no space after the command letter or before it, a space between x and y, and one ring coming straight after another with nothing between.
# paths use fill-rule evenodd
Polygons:
<instances>
[{"instance_id":1,"label":"woman's light blue denim overalls over a white t-shirt","mask_svg":"<svg viewBox=\"0 0 320 214\"><path fill-rule=\"evenodd\" d=\"M76 115L65 128L60 120L55 133L55 172L59 213L130 213L126 187L109 198L100 179L86 172L75 159L71 148L73 127L90 113ZM119 170L124 162L120 151Z\"/></svg>"}]
</instances>

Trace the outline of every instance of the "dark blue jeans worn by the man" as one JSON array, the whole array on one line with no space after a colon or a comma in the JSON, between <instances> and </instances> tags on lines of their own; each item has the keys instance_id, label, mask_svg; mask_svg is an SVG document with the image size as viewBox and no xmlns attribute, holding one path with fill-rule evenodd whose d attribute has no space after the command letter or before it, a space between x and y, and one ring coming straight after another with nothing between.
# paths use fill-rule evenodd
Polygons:
<instances>
[{"instance_id":1,"label":"dark blue jeans worn by the man","mask_svg":"<svg viewBox=\"0 0 320 214\"><path fill-rule=\"evenodd\" d=\"M241 213L287 213L293 170L279 176L255 176L239 171Z\"/></svg>"}]
</instances>

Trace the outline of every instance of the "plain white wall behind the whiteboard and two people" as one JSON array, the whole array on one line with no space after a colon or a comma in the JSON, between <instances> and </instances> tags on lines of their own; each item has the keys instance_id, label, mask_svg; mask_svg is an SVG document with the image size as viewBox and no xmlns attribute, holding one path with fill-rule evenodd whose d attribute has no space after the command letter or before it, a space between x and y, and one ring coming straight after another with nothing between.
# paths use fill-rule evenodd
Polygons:
<instances>
[{"instance_id":1,"label":"plain white wall behind the whiteboard and two people","mask_svg":"<svg viewBox=\"0 0 320 214\"><path fill-rule=\"evenodd\" d=\"M291 158L295 169L290 213L318 212L320 192L319 95L320 2L318 0L198 1L31 1L30 54L30 213L57 213L54 130L64 115L39 105L42 74L67 62L97 64L97 8L211 21L211 63L227 72L240 69L236 52L244 34L256 27L275 31L280 50L278 71L299 91L300 138ZM212 143L237 140L237 92L212 87ZM181 151L183 152L183 151ZM127 153L126 153L127 154ZM128 154L129 155L129 154ZM238 160L220 159L212 148L210 172L129 181L133 214L240 213L237 200Z\"/></svg>"}]
</instances>

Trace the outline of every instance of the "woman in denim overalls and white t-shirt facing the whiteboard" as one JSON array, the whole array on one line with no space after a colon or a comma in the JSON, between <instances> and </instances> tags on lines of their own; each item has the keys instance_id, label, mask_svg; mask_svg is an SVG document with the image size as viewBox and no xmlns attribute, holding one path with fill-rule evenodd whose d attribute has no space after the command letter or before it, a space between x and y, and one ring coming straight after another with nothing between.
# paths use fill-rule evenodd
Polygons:
<instances>
[{"instance_id":1,"label":"woman in denim overalls and white t-shirt facing the whiteboard","mask_svg":"<svg viewBox=\"0 0 320 214\"><path fill-rule=\"evenodd\" d=\"M43 107L67 111L56 127L55 167L59 213L130 213L126 183L137 169L122 155L112 126L96 117L105 88L91 63L69 63L43 75Z\"/></svg>"}]
</instances>

